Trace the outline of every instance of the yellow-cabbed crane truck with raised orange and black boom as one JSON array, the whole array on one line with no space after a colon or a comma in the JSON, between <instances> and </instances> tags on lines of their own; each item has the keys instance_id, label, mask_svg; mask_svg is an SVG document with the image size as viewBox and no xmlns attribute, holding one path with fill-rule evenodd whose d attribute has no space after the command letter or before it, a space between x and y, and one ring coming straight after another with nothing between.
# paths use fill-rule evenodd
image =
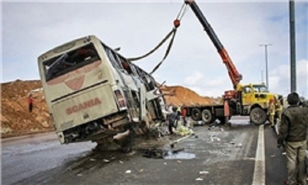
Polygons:
<instances>
[{"instance_id":1,"label":"yellow-cabbed crane truck with raised orange and black boom","mask_svg":"<svg viewBox=\"0 0 308 185\"><path fill-rule=\"evenodd\" d=\"M227 67L234 90L225 92L224 105L228 103L231 115L249 115L251 122L255 124L265 123L265 121L268 119L266 114L268 109L268 101L277 94L268 92L264 84L240 84L242 75L238 73L231 58L228 55L227 50L224 48L223 44L217 37L216 33L198 7L197 3L194 0L184 0L184 2L191 7L197 16L198 20L202 24L204 30L207 32L219 55L221 56L223 63ZM179 25L179 21L175 20L174 25ZM277 97L280 98L282 96L277 95ZM224 111L225 114L223 114L222 111ZM192 118L195 120L198 120L202 117L204 122L211 122L215 120L215 118L221 119L222 116L226 117L226 106L224 108L219 105L191 107L190 112ZM201 114L201 116L199 114Z\"/></svg>"}]
</instances>

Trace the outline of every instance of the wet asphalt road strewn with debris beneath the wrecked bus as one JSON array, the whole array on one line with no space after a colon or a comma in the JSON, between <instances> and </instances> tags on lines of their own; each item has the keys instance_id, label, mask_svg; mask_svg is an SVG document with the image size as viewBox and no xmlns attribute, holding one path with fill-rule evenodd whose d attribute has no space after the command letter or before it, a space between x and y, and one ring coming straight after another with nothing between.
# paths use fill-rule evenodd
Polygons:
<instances>
[{"instance_id":1,"label":"wet asphalt road strewn with debris beneath the wrecked bus","mask_svg":"<svg viewBox=\"0 0 308 185\"><path fill-rule=\"evenodd\" d=\"M282 185L286 159L273 130L265 126L260 145L259 127L245 117L231 123L194 127L195 135L182 140L136 139L129 153L99 151L91 142L60 145L54 133L2 139L2 184L251 185L264 178L267 185Z\"/></svg>"}]
</instances>

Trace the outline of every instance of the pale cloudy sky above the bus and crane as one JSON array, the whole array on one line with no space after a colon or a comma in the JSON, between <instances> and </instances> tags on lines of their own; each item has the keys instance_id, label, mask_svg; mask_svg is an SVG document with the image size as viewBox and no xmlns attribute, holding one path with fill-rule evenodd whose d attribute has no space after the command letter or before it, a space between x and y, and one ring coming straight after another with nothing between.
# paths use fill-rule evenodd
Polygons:
<instances>
[{"instance_id":1,"label":"pale cloudy sky above the bus and crane","mask_svg":"<svg viewBox=\"0 0 308 185\"><path fill-rule=\"evenodd\" d=\"M227 49L242 84L266 82L286 95L290 85L289 0L197 0ZM172 29L183 0L2 0L0 81L39 80L37 57L63 43L96 35L127 58L153 49ZM308 97L308 1L296 0L297 92ZM150 72L167 43L134 62ZM227 68L188 7L171 51L153 74L158 83L180 85L200 95L221 96L232 89Z\"/></svg>"}]
</instances>

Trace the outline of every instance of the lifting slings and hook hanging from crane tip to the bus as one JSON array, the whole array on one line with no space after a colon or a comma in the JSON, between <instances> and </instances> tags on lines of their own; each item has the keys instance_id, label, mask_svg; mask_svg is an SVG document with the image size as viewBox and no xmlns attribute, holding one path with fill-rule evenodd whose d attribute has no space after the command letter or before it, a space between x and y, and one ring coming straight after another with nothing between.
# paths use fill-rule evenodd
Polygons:
<instances>
[{"instance_id":1,"label":"lifting slings and hook hanging from crane tip to the bus","mask_svg":"<svg viewBox=\"0 0 308 185\"><path fill-rule=\"evenodd\" d=\"M173 44L173 40L174 40L174 37L175 37L175 34L176 34L176 30L177 28L180 26L180 20L183 18L184 14L186 13L187 11L187 4L183 3L179 13L177 14L177 17L176 19L173 21L173 28L172 30L158 43L158 45L156 47L154 47L154 49L152 49L151 51L149 51L148 53L140 56L140 57L136 57L136 58L128 58L127 60L129 61L136 61L136 60L140 60L140 59L143 59L149 55L151 55L152 53L154 53L160 46L162 46L163 43L165 43L168 38L172 35L172 38L170 39L170 42L168 44L168 47L165 51L165 55L164 57L162 58L162 60L154 67L154 69L150 72L150 75L152 75L158 68L159 66L162 64L162 62L166 59L166 57L168 56L170 50L171 50L171 47L172 47L172 44Z\"/></svg>"}]
</instances>

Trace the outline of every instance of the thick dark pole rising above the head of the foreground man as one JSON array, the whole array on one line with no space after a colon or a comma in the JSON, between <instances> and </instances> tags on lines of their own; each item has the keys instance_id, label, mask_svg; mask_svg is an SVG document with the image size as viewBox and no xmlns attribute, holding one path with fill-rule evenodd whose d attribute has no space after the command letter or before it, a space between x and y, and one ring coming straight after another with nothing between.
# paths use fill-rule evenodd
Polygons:
<instances>
[{"instance_id":1,"label":"thick dark pole rising above the head of the foreground man","mask_svg":"<svg viewBox=\"0 0 308 185\"><path fill-rule=\"evenodd\" d=\"M291 52L291 92L296 92L296 54L295 54L295 5L294 0L290 4L290 52Z\"/></svg>"}]
</instances>

